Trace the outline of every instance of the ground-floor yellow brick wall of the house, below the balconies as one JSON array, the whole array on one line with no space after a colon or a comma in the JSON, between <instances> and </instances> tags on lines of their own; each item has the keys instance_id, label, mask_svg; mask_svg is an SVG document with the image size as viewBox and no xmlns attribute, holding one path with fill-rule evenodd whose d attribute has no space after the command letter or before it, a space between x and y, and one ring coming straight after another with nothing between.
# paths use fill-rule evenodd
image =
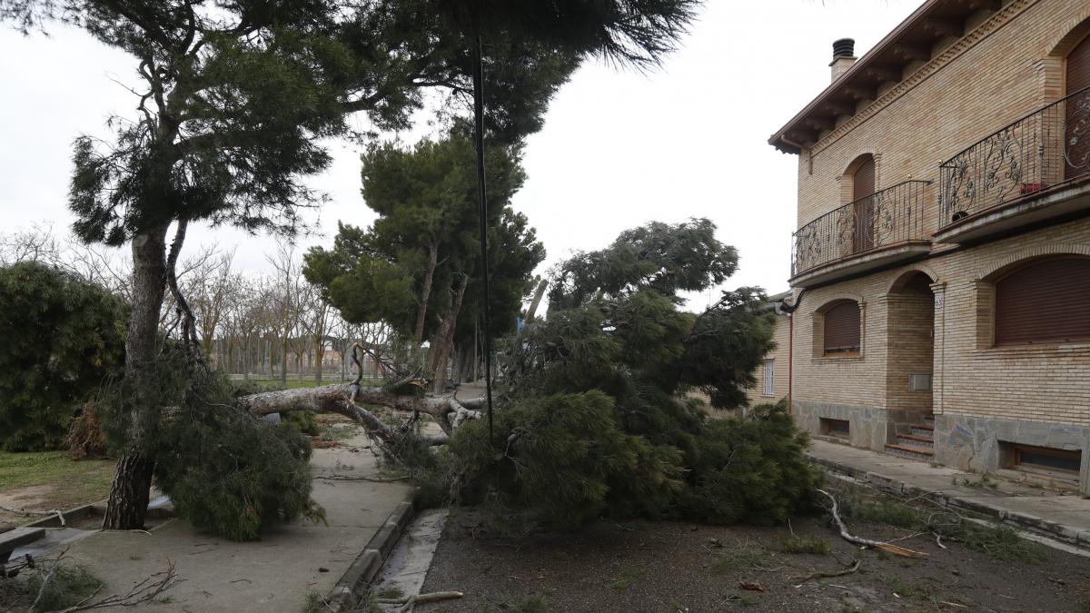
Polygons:
<instances>
[{"instance_id":1,"label":"ground-floor yellow brick wall of the house, below the balconies","mask_svg":"<svg viewBox=\"0 0 1090 613\"><path fill-rule=\"evenodd\" d=\"M904 297L888 291L904 275L923 271L937 279L934 291L942 296L941 306L928 298L935 309L935 414L1090 425L1090 342L992 347L986 338L981 340L980 332L991 329L991 303L986 284L981 291L980 280L1008 263L1056 253L1090 255L1090 219L934 255L807 292L795 312L794 398L891 411L906 408L896 390L906 388L909 371L922 368L911 357L912 352L918 357L921 349L911 340L906 348L904 337L901 347L898 341L891 347L889 327L907 325L918 333L920 311L912 310L915 323L898 317ZM863 303L862 354L814 357L815 313L840 298Z\"/></svg>"}]
</instances>

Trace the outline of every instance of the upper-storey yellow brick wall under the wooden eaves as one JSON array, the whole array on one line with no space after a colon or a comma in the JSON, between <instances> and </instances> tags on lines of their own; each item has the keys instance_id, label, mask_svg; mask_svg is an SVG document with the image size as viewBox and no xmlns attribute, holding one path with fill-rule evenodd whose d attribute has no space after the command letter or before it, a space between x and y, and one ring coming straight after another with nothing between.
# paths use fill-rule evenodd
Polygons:
<instances>
[{"instance_id":1,"label":"upper-storey yellow brick wall under the wooden eaves","mask_svg":"<svg viewBox=\"0 0 1090 613\"><path fill-rule=\"evenodd\" d=\"M937 45L932 60L799 155L799 227L851 200L843 175L870 153L877 189L934 181L924 207L934 232L940 164L1062 97L1057 45L1088 16L1086 0L1008 0L964 38Z\"/></svg>"}]
</instances>

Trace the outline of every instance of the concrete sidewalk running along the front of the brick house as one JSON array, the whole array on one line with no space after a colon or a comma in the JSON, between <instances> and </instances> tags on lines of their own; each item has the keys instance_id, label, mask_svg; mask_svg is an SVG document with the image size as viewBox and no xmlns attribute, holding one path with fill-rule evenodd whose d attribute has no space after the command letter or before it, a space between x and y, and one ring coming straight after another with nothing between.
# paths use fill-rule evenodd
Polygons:
<instances>
[{"instance_id":1,"label":"concrete sidewalk running along the front of the brick house","mask_svg":"<svg viewBox=\"0 0 1090 613\"><path fill-rule=\"evenodd\" d=\"M1071 492L1003 479L996 486L966 485L980 474L815 440L808 455L832 471L907 495L934 493L954 508L973 510L1045 537L1090 550L1090 500ZM956 480L956 484L955 484Z\"/></svg>"}]
</instances>

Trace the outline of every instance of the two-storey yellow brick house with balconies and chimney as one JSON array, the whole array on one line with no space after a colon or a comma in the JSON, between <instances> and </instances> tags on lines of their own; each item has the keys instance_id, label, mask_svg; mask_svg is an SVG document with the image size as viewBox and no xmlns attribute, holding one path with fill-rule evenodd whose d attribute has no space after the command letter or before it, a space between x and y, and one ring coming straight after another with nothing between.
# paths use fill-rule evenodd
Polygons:
<instances>
[{"instance_id":1,"label":"two-storey yellow brick house with balconies and chimney","mask_svg":"<svg viewBox=\"0 0 1090 613\"><path fill-rule=\"evenodd\" d=\"M770 143L815 435L1090 493L1090 2L928 0ZM786 365L786 364L785 364Z\"/></svg>"}]
</instances>

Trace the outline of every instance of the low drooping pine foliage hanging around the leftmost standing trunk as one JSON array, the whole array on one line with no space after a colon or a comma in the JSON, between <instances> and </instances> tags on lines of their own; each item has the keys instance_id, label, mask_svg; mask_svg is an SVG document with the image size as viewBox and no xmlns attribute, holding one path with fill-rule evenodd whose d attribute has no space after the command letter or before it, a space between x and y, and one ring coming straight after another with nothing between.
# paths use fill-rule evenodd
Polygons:
<instances>
[{"instance_id":1,"label":"low drooping pine foliage hanging around the leftmost standing trunk","mask_svg":"<svg viewBox=\"0 0 1090 613\"><path fill-rule=\"evenodd\" d=\"M234 405L252 385L232 385L171 340L161 341L152 378L156 404L170 407L158 419L132 410L132 384L123 377L99 390L95 409L116 453L132 443L129 433L143 432L142 444L156 450L155 483L182 518L237 541L300 517L324 520L311 498L311 446L300 429Z\"/></svg>"}]
</instances>

